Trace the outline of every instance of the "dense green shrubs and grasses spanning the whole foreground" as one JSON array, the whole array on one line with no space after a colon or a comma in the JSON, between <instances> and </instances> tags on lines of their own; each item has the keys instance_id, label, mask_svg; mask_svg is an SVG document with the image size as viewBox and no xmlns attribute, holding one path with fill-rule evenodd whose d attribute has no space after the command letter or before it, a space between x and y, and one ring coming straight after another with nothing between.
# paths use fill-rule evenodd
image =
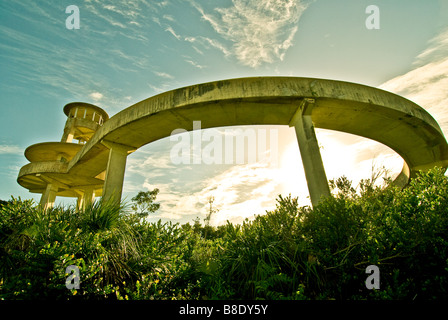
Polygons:
<instances>
[{"instance_id":1,"label":"dense green shrubs and grasses spanning the whole foreground","mask_svg":"<svg viewBox=\"0 0 448 320\"><path fill-rule=\"evenodd\" d=\"M434 169L403 189L332 181L314 209L279 196L241 225L149 223L144 210L97 202L42 212L0 204L2 299L448 298L448 178ZM152 197L153 196L153 197ZM137 201L138 198L135 199ZM210 209L212 210L212 209ZM379 290L365 286L368 265ZM78 290L66 267L80 269Z\"/></svg>"}]
</instances>

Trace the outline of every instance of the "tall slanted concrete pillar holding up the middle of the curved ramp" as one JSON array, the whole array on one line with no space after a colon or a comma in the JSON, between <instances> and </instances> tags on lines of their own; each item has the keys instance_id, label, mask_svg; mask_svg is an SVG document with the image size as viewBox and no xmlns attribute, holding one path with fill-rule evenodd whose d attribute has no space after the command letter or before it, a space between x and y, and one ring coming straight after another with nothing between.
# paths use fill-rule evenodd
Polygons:
<instances>
[{"instance_id":1,"label":"tall slanted concrete pillar holding up the middle of the curved ramp","mask_svg":"<svg viewBox=\"0 0 448 320\"><path fill-rule=\"evenodd\" d=\"M290 126L296 130L311 203L316 206L322 197L329 197L331 193L311 119L313 106L313 99L304 99L291 119Z\"/></svg>"}]
</instances>

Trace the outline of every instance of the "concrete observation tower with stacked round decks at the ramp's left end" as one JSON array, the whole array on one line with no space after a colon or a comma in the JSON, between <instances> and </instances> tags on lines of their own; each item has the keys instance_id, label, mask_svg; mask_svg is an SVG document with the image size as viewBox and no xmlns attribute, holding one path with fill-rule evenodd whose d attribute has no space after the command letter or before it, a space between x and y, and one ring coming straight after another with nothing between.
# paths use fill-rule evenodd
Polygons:
<instances>
[{"instance_id":1,"label":"concrete observation tower with stacked round decks at the ramp's left end","mask_svg":"<svg viewBox=\"0 0 448 320\"><path fill-rule=\"evenodd\" d=\"M34 144L25 150L31 162L21 170L18 182L30 190L41 193L40 205L51 208L56 196L78 198L78 208L85 208L96 196L101 196L104 174L91 177L64 174L68 163L78 154L95 132L109 119L101 108L89 103L73 102L64 107L67 115L60 142ZM27 172L34 174L27 174Z\"/></svg>"}]
</instances>

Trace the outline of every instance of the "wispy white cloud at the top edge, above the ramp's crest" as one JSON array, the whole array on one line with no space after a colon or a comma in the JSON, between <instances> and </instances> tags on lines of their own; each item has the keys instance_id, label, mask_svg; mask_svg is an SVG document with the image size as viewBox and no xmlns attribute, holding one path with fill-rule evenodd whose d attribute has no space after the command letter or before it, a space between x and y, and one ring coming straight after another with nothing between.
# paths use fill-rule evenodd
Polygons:
<instances>
[{"instance_id":1,"label":"wispy white cloud at the top edge, above the ramp's crest","mask_svg":"<svg viewBox=\"0 0 448 320\"><path fill-rule=\"evenodd\" d=\"M217 8L214 13L206 13L194 2L193 5L221 37L232 43L232 54L242 64L256 68L262 63L283 60L309 1L233 0L232 3L233 6Z\"/></svg>"}]
</instances>

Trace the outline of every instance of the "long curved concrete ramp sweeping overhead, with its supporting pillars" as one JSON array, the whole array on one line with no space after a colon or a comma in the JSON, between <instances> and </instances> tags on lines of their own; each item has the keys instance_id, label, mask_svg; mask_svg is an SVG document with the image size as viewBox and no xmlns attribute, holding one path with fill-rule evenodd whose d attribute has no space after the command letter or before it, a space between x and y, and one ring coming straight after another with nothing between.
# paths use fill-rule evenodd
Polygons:
<instances>
[{"instance_id":1,"label":"long curved concrete ramp sweeping overhead, with its supporting pillars","mask_svg":"<svg viewBox=\"0 0 448 320\"><path fill-rule=\"evenodd\" d=\"M195 120L201 120L203 129L294 126L313 204L329 195L314 127L363 136L395 150L405 161L395 180L400 186L418 170L448 167L447 142L428 112L398 95L349 82L296 77L215 81L158 94L110 119L102 115L104 123L64 165L48 157L33 161L21 169L18 183L42 194L50 192L53 182L58 186L53 195L77 196L93 189L119 200L127 155L177 128L192 130ZM32 152L27 158L36 160Z\"/></svg>"}]
</instances>

